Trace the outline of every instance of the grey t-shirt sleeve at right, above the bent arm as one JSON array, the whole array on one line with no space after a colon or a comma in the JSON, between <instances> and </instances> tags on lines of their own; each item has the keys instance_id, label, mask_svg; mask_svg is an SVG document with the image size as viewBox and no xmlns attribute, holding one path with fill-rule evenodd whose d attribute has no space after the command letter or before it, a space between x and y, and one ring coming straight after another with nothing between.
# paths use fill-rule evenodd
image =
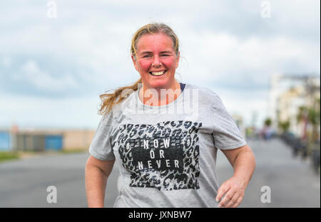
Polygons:
<instances>
[{"instance_id":1,"label":"grey t-shirt sleeve at right, above the bent arm","mask_svg":"<svg viewBox=\"0 0 321 222\"><path fill-rule=\"evenodd\" d=\"M243 147L246 142L240 133L233 117L225 109L220 97L214 93L212 103L213 140L218 149L236 149Z\"/></svg>"}]
</instances>

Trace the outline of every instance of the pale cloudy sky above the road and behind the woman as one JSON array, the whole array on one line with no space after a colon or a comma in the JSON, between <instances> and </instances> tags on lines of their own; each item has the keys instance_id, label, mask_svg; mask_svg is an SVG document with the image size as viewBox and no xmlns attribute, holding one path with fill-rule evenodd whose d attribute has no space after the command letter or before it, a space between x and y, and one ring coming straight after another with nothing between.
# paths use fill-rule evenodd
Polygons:
<instances>
[{"instance_id":1,"label":"pale cloudy sky above the road and behind the woman","mask_svg":"<svg viewBox=\"0 0 321 222\"><path fill-rule=\"evenodd\" d=\"M138 80L133 33L164 22L177 78L213 90L250 124L273 73L320 75L319 0L1 1L0 128L96 129L98 95Z\"/></svg>"}]
</instances>

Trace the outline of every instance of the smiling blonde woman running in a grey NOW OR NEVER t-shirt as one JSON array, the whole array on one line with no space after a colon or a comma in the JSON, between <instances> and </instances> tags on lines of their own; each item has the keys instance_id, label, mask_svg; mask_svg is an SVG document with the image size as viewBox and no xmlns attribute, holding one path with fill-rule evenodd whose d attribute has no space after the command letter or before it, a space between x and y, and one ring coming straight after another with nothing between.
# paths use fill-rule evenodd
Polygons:
<instances>
[{"instance_id":1,"label":"smiling blonde woman running in a grey NOW OR NEVER t-shirt","mask_svg":"<svg viewBox=\"0 0 321 222\"><path fill-rule=\"evenodd\" d=\"M255 169L254 154L218 95L175 79L180 53L173 30L163 23L143 26L131 54L141 78L101 95L103 117L86 163L88 206L103 207L116 161L115 207L237 207ZM234 169L220 187L218 149Z\"/></svg>"}]
</instances>

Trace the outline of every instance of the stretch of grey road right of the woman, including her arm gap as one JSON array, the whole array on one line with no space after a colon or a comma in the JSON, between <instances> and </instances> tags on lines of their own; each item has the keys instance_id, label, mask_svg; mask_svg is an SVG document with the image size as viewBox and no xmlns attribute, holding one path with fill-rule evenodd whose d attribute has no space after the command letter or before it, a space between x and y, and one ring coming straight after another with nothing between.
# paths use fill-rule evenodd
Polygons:
<instances>
[{"instance_id":1,"label":"stretch of grey road right of the woman, including her arm gap","mask_svg":"<svg viewBox=\"0 0 321 222\"><path fill-rule=\"evenodd\" d=\"M249 141L256 159L253 178L240 207L319 207L320 174L316 175L308 160L292 157L290 147L279 139L270 142ZM222 152L218 154L220 183L233 175ZM271 203L262 203L262 186L270 187Z\"/></svg>"}]
</instances>

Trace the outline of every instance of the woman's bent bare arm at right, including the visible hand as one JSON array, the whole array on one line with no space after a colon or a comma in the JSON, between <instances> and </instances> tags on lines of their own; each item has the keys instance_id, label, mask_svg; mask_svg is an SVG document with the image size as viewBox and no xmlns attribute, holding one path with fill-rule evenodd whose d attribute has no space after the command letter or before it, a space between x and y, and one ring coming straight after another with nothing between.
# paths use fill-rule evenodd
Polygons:
<instances>
[{"instance_id":1,"label":"woman's bent bare arm at right, including the visible hand","mask_svg":"<svg viewBox=\"0 0 321 222\"><path fill-rule=\"evenodd\" d=\"M248 145L221 151L233 166L234 174L220 186L216 201L220 201L220 207L237 207L243 200L245 189L254 173L255 156Z\"/></svg>"}]
</instances>

